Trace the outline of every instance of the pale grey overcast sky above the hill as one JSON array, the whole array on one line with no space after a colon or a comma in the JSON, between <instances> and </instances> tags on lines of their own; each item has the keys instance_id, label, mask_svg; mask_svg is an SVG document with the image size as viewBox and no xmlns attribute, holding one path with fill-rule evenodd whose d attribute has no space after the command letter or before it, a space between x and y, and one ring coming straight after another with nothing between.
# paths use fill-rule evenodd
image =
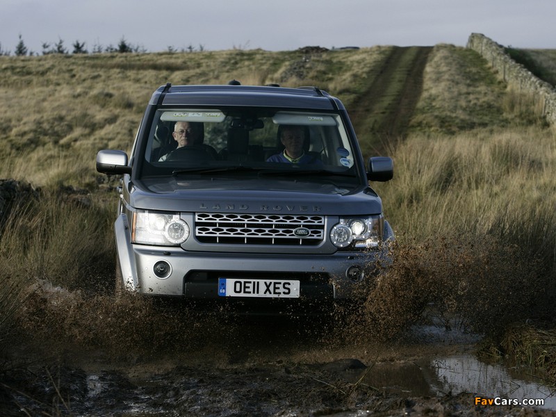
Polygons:
<instances>
[{"instance_id":1,"label":"pale grey overcast sky above the hill","mask_svg":"<svg viewBox=\"0 0 556 417\"><path fill-rule=\"evenodd\" d=\"M464 46L473 32L499 44L556 49L556 0L0 0L0 46L14 51L79 40L147 51L304 46Z\"/></svg>"}]
</instances>

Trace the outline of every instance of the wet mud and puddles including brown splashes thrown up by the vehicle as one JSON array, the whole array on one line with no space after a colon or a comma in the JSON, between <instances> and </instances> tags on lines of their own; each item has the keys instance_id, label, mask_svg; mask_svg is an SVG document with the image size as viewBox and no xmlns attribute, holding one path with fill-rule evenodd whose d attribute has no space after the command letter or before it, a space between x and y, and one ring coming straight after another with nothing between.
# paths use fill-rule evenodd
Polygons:
<instances>
[{"instance_id":1,"label":"wet mud and puddles including brown splashes thrown up by the vehicle","mask_svg":"<svg viewBox=\"0 0 556 417\"><path fill-rule=\"evenodd\" d=\"M398 248L371 294L380 303L329 316L206 313L116 297L111 278L96 291L36 281L3 352L1 415L553 415L541 377L477 358L493 327L486 317L500 324L508 307L514 318L530 312L527 293L487 290L537 271L511 248L468 247ZM480 406L477 395L545 404Z\"/></svg>"}]
</instances>

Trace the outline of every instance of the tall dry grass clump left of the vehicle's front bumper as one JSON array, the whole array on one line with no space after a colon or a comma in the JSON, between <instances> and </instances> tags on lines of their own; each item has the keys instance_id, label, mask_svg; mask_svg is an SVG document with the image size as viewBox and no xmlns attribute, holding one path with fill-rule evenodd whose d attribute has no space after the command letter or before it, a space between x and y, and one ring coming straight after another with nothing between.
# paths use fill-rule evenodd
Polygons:
<instances>
[{"instance_id":1,"label":"tall dry grass clump left of the vehicle's front bumper","mask_svg":"<svg viewBox=\"0 0 556 417\"><path fill-rule=\"evenodd\" d=\"M13 208L0 236L3 279L23 284L48 279L64 288L94 288L96 279L113 270L115 210L99 200L101 195L60 188L43 190L40 197Z\"/></svg>"}]
</instances>

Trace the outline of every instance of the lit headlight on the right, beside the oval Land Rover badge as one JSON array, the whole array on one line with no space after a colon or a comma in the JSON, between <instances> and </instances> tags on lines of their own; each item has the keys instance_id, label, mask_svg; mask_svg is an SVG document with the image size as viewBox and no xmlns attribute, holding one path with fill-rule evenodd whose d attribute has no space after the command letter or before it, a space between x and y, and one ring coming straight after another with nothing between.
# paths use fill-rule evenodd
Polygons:
<instances>
[{"instance_id":1,"label":"lit headlight on the right, beside the oval Land Rover badge","mask_svg":"<svg viewBox=\"0 0 556 417\"><path fill-rule=\"evenodd\" d=\"M382 241L384 217L341 218L330 231L330 240L341 249L377 249Z\"/></svg>"}]
</instances>

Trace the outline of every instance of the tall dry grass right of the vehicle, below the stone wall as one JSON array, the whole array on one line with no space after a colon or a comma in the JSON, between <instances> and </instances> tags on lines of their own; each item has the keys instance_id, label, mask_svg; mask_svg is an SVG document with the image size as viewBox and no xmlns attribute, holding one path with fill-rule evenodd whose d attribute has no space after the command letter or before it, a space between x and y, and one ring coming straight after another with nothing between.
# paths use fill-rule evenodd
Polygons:
<instances>
[{"instance_id":1,"label":"tall dry grass right of the vehicle, below the stone wall","mask_svg":"<svg viewBox=\"0 0 556 417\"><path fill-rule=\"evenodd\" d=\"M393 181L375 188L400 248L363 328L392 336L432 305L446 323L493 336L493 350L521 362L530 352L554 380L553 331L535 341L513 325L556 313L556 131L416 134L395 164Z\"/></svg>"}]
</instances>

